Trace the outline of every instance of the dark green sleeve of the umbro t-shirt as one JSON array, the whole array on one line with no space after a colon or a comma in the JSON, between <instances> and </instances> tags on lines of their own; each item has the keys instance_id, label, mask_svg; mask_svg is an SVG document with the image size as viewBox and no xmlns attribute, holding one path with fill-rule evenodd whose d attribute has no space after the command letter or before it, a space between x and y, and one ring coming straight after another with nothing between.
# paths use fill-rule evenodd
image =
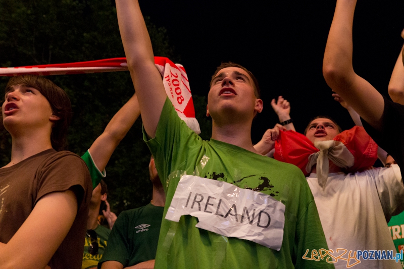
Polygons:
<instances>
[{"instance_id":1,"label":"dark green sleeve of the umbro t-shirt","mask_svg":"<svg viewBox=\"0 0 404 269\"><path fill-rule=\"evenodd\" d=\"M128 265L131 253L131 246L128 241L129 228L133 229L133 227L129 227L128 216L125 212L121 212L114 227L112 227L104 255L98 262L98 268L101 268L101 264L108 260L118 261L124 267Z\"/></svg>"}]
</instances>

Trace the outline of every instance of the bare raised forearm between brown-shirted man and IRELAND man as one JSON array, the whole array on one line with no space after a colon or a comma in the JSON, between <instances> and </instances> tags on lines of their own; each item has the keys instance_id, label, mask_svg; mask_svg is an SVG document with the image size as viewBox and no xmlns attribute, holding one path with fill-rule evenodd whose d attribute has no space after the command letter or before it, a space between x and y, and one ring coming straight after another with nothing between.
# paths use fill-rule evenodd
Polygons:
<instances>
[{"instance_id":1,"label":"bare raised forearm between brown-shirted man and IRELAND man","mask_svg":"<svg viewBox=\"0 0 404 269\"><path fill-rule=\"evenodd\" d=\"M139 115L139 103L136 94L134 94L111 119L104 132L92 143L89 151L99 171L105 169L115 148L128 133Z\"/></svg>"}]
</instances>

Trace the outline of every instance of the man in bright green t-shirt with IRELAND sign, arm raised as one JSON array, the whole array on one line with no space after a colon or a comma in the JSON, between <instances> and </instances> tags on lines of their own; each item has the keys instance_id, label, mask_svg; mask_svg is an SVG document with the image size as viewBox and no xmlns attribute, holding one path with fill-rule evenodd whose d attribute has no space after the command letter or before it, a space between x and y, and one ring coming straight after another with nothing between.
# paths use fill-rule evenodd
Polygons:
<instances>
[{"instance_id":1,"label":"man in bright green t-shirt with IRELAND sign, arm raised","mask_svg":"<svg viewBox=\"0 0 404 269\"><path fill-rule=\"evenodd\" d=\"M128 68L139 100L144 139L156 158L166 192L164 217L170 215L169 218L175 219L162 221L155 268L333 268L324 258L316 261L310 254L303 258L306 252L327 249L305 177L292 165L258 154L252 145L252 119L263 108L254 76L238 65L217 70L207 107L207 115L213 119L212 139L201 140L178 118L167 98L137 1L117 0L116 6ZM175 94L182 101L181 92ZM230 189L233 187L229 186L234 186L234 191L228 195L218 191L217 197L205 195L208 200L204 200L200 193L194 193L192 186L183 184L187 177L180 181L183 174L198 176L188 178L187 182L205 184L206 192L211 187L217 191L220 186ZM178 201L177 192L181 192L177 188L180 184L194 195L189 206L184 202L182 208L194 208L191 215L203 211L199 222L188 213L177 216L178 220L174 216L181 207L174 205ZM262 217L264 209L254 211L257 214L252 207L244 206L243 210L240 204L245 201L237 199L238 194L248 201L251 199L248 197L261 197L261 202L255 200L260 206L264 200L271 204L273 211L265 213L272 216L270 221ZM188 194L182 191L179 195ZM191 193L188 200L190 197ZM234 204L223 211L221 204L229 206L230 200ZM246 208L249 213L244 214ZM244 217L248 217L248 222ZM238 228L234 226L237 224ZM267 232L268 238L260 241Z\"/></svg>"}]
</instances>

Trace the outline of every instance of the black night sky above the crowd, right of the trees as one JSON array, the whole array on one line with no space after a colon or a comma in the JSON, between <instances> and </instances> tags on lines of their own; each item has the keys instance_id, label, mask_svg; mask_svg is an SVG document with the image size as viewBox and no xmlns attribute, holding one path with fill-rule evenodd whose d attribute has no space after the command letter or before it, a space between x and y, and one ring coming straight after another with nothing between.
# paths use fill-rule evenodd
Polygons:
<instances>
[{"instance_id":1,"label":"black night sky above the crowd, right of the trees","mask_svg":"<svg viewBox=\"0 0 404 269\"><path fill-rule=\"evenodd\" d=\"M257 77L264 111L252 127L254 143L278 122L271 99L291 103L297 131L329 115L354 126L331 97L322 61L336 1L139 1L144 16L164 26L180 55L191 91L207 96L221 62L243 65ZM404 1L359 1L354 20L354 69L382 94L404 40Z\"/></svg>"}]
</instances>

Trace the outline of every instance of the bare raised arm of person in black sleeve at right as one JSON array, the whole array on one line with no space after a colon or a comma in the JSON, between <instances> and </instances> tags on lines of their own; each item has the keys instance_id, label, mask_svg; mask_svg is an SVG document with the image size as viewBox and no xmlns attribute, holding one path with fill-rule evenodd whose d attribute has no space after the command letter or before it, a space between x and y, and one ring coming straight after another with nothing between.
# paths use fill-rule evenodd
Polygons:
<instances>
[{"instance_id":1,"label":"bare raised arm of person in black sleeve at right","mask_svg":"<svg viewBox=\"0 0 404 269\"><path fill-rule=\"evenodd\" d=\"M352 24L356 0L337 0L324 53L327 84L375 129L380 130L383 96L352 67Z\"/></svg>"}]
</instances>

